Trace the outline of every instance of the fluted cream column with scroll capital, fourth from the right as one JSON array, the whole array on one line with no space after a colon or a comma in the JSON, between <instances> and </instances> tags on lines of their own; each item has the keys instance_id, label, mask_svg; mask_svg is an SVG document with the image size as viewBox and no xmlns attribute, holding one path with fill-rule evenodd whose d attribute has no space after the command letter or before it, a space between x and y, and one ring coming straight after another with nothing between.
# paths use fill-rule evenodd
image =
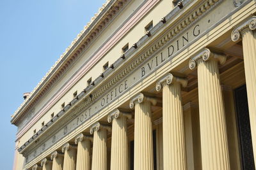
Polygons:
<instances>
[{"instance_id":1,"label":"fluted cream column with scroll capital, fourth from the right","mask_svg":"<svg viewBox=\"0 0 256 170\"><path fill-rule=\"evenodd\" d=\"M134 170L154 169L151 105L156 103L156 99L141 93L130 101L130 108L135 108Z\"/></svg>"}]
</instances>

